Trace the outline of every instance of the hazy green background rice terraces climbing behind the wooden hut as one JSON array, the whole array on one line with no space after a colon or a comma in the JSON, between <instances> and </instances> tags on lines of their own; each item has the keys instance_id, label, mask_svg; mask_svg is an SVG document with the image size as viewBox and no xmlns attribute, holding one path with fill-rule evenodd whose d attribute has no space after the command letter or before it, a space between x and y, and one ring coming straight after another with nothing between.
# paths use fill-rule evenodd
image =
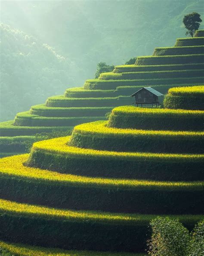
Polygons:
<instances>
[{"instance_id":1,"label":"hazy green background rice terraces climbing behind the wooden hut","mask_svg":"<svg viewBox=\"0 0 204 256\"><path fill-rule=\"evenodd\" d=\"M166 94L171 87L200 84L204 84L203 30L197 31L194 38L176 39L173 47L155 48L152 56L138 57L134 65L116 66L113 72L103 73L99 79L86 80L83 87L68 88L64 95L49 97L45 104L18 113L15 120L0 123L0 145L3 145L0 157L25 153L25 141L32 143L35 134L65 132L84 122L105 120L105 114L114 107L131 105L130 95L143 86ZM180 98L171 108L182 104L184 109L191 106L203 110L198 98L190 97L188 106L184 104L185 97ZM166 106L170 108L167 101L172 103L175 99L176 96L169 94Z\"/></svg>"}]
</instances>

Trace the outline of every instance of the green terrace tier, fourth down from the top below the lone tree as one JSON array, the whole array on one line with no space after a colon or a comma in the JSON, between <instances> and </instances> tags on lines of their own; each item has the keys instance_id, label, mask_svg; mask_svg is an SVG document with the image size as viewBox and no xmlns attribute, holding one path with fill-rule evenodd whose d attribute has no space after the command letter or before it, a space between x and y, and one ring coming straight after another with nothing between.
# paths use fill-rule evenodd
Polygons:
<instances>
[{"instance_id":1,"label":"green terrace tier, fourth down from the top below the lone tree","mask_svg":"<svg viewBox=\"0 0 204 256\"><path fill-rule=\"evenodd\" d=\"M203 63L204 54L174 56L142 56L137 57L136 65L170 65Z\"/></svg>"}]
</instances>

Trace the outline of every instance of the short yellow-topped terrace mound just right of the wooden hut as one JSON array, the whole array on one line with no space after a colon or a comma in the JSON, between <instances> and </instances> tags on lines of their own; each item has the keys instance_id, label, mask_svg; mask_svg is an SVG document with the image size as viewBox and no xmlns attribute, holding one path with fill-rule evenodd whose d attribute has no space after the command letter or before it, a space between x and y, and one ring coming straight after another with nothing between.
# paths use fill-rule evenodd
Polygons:
<instances>
[{"instance_id":1,"label":"short yellow-topped terrace mound just right of the wooden hut","mask_svg":"<svg viewBox=\"0 0 204 256\"><path fill-rule=\"evenodd\" d=\"M164 107L204 110L204 86L170 88L164 98Z\"/></svg>"}]
</instances>

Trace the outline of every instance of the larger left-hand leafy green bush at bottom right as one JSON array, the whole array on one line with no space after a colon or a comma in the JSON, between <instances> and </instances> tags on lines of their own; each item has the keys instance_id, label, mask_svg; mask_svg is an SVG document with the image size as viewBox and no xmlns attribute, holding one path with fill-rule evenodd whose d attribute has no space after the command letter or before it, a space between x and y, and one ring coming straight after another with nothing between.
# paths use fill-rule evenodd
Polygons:
<instances>
[{"instance_id":1,"label":"larger left-hand leafy green bush at bottom right","mask_svg":"<svg viewBox=\"0 0 204 256\"><path fill-rule=\"evenodd\" d=\"M189 231L177 219L158 217L150 222L151 240L148 241L151 256L187 256Z\"/></svg>"}]
</instances>

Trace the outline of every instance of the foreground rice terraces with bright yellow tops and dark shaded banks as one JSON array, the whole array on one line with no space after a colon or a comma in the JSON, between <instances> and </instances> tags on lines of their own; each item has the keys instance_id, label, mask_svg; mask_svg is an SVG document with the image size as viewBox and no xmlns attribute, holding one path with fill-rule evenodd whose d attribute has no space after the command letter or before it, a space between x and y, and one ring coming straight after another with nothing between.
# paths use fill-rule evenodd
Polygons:
<instances>
[{"instance_id":1,"label":"foreground rice terraces with bright yellow tops and dark shaded banks","mask_svg":"<svg viewBox=\"0 0 204 256\"><path fill-rule=\"evenodd\" d=\"M169 94L204 100L203 86ZM2 158L0 246L34 256L145 255L158 215L192 230L204 219L203 118L203 110L119 106L108 121Z\"/></svg>"}]
</instances>

